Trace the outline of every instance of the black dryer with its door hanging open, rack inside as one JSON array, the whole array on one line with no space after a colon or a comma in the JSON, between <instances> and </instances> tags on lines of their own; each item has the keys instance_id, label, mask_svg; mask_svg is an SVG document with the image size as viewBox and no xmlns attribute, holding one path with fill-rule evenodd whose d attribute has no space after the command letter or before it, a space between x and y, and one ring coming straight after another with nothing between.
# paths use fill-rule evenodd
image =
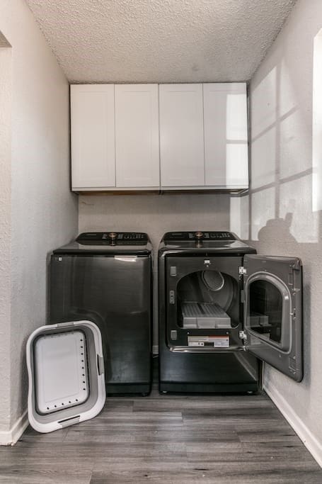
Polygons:
<instances>
[{"instance_id":1,"label":"black dryer with its door hanging open, rack inside","mask_svg":"<svg viewBox=\"0 0 322 484\"><path fill-rule=\"evenodd\" d=\"M231 232L168 232L159 245L161 392L255 392L266 361L303 376L302 268Z\"/></svg>"}]
</instances>

